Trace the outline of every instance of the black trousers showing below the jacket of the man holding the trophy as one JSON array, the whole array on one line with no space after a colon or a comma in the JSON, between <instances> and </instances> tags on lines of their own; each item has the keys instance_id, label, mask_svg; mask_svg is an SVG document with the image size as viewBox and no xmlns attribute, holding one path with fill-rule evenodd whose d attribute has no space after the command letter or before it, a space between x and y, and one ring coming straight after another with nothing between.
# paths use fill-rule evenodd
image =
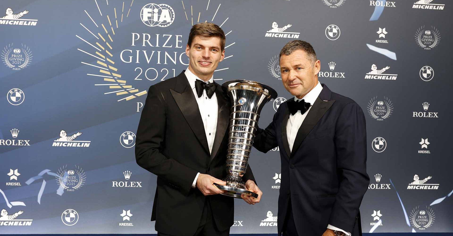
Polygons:
<instances>
[{"instance_id":1,"label":"black trousers showing below the jacket of the man holding the trophy","mask_svg":"<svg viewBox=\"0 0 453 236\"><path fill-rule=\"evenodd\" d=\"M214 216L212 215L211 204L209 199L204 202L204 208L198 225L197 231L193 236L229 236L230 229L225 231L218 231L216 223L214 222ZM157 232L157 236L174 236Z\"/></svg>"}]
</instances>

